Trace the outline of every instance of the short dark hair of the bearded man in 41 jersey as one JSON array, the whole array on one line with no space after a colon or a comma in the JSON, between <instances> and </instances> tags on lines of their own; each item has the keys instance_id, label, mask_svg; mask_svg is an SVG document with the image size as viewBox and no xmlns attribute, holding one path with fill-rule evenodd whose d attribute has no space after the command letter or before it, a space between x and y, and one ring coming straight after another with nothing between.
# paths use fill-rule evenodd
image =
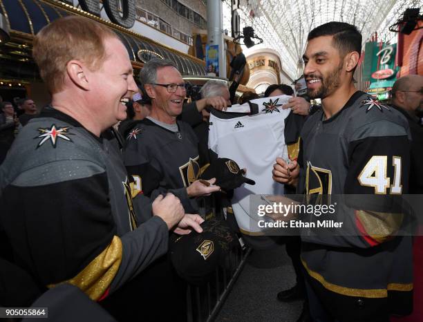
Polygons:
<instances>
[{"instance_id":1,"label":"short dark hair of the bearded man in 41 jersey","mask_svg":"<svg viewBox=\"0 0 423 322\"><path fill-rule=\"evenodd\" d=\"M322 36L333 36L332 44L339 50L341 57L353 51L361 55L361 33L356 26L346 22L331 21L310 31L307 40Z\"/></svg>"}]
</instances>

